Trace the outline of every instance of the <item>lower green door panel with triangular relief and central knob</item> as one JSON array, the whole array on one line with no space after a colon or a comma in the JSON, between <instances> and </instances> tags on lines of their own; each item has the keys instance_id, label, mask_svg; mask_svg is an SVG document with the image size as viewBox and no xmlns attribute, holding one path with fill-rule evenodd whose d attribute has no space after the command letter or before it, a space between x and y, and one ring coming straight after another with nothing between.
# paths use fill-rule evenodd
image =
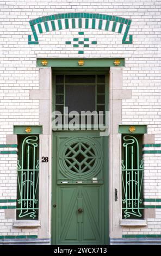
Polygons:
<instances>
[{"instance_id":1,"label":"lower green door panel with triangular relief and central knob","mask_svg":"<svg viewBox=\"0 0 161 256\"><path fill-rule=\"evenodd\" d=\"M96 243L103 240L102 185L59 186L58 238L60 243ZM82 210L79 212L78 210Z\"/></svg>"}]
</instances>

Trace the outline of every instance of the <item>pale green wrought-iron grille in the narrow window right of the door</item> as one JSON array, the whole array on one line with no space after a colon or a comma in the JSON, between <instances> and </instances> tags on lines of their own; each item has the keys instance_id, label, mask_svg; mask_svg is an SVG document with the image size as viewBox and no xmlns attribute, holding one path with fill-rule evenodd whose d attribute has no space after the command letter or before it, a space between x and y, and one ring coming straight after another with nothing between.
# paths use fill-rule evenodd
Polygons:
<instances>
[{"instance_id":1,"label":"pale green wrought-iron grille in the narrow window right of the door","mask_svg":"<svg viewBox=\"0 0 161 256\"><path fill-rule=\"evenodd\" d=\"M122 218L143 217L143 160L138 138L123 136Z\"/></svg>"}]
</instances>

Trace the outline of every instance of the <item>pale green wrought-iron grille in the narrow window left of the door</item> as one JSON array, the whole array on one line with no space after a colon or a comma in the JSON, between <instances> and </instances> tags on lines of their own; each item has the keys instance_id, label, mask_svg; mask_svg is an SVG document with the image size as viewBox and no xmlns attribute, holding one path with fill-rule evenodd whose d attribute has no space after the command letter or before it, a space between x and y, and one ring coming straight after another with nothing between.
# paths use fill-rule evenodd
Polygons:
<instances>
[{"instance_id":1,"label":"pale green wrought-iron grille in the narrow window left of the door","mask_svg":"<svg viewBox=\"0 0 161 256\"><path fill-rule=\"evenodd\" d=\"M17 218L38 219L39 137L23 137L18 150Z\"/></svg>"}]
</instances>

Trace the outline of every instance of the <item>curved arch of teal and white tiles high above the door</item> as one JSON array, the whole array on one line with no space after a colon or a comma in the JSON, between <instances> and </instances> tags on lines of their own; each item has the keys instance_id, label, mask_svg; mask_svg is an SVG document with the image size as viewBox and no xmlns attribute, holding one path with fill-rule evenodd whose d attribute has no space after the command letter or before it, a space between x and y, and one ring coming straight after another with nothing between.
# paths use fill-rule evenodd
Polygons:
<instances>
[{"instance_id":1,"label":"curved arch of teal and white tiles high above the door","mask_svg":"<svg viewBox=\"0 0 161 256\"><path fill-rule=\"evenodd\" d=\"M28 44L39 44L38 35L60 29L89 28L123 34L122 44L132 44L132 35L128 35L132 20L118 16L94 13L54 14L30 20L32 35L28 35ZM128 39L127 39L128 38Z\"/></svg>"}]
</instances>

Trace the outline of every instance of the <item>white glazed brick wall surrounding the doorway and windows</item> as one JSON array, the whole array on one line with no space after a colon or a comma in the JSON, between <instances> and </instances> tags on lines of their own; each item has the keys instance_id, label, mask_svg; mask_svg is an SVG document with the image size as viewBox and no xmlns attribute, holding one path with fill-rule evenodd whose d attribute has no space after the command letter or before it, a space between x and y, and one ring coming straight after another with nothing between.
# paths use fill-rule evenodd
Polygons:
<instances>
[{"instance_id":1,"label":"white glazed brick wall surrounding the doorway and windows","mask_svg":"<svg viewBox=\"0 0 161 256\"><path fill-rule=\"evenodd\" d=\"M104 13L132 19L129 34L133 35L133 44L123 45L118 33L65 29L41 34L39 45L28 45L28 35L32 34L29 20L66 12ZM1 0L0 144L5 144L5 136L13 133L13 125L39 124L39 101L29 99L29 90L39 89L36 58L40 57L125 58L123 89L132 89L132 99L122 101L122 124L147 124L148 133L155 135L155 143L161 143L160 26L159 0ZM78 48L65 44L79 37L79 31L97 41L97 45L84 49L81 55ZM16 198L15 158L1 155L0 199ZM160 155L145 156L146 198L161 198L160 183ZM36 229L13 229L11 222L4 220L4 210L0 210L2 235L37 234ZM123 234L160 234L160 222L161 209L156 209L156 218L148 220L147 228L126 228Z\"/></svg>"}]
</instances>

